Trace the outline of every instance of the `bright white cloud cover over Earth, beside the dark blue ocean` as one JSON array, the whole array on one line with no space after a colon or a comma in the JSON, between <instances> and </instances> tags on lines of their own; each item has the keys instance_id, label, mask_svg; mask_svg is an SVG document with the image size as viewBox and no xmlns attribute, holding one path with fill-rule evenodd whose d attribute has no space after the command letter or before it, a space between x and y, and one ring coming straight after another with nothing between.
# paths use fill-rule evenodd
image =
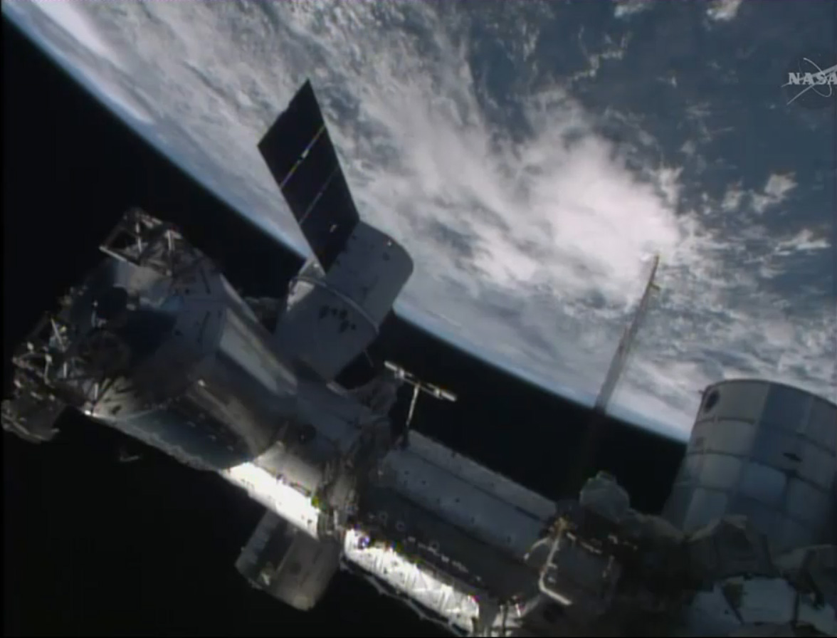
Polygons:
<instances>
[{"instance_id":1,"label":"bright white cloud cover over Earth, beside the dark blue ocean","mask_svg":"<svg viewBox=\"0 0 837 638\"><path fill-rule=\"evenodd\" d=\"M739 4L713 3L707 15L731 20ZM615 11L646 8L618 3ZM619 64L629 39L593 46L579 33L586 62L577 72L523 78L510 96L488 90L474 62L479 43L468 20L476 18L423 3L85 3L74 11L90 22L47 15L87 49L113 59L106 37L130 59L120 63L133 69L128 95L148 111L140 119L154 122L152 139L298 248L255 143L310 77L362 214L416 262L400 309L521 376L592 402L659 253L663 290L615 411L685 436L698 391L720 378L777 378L837 394L834 303L802 303L799 290L791 301L773 286L800 255L831 248L832 235L790 224L777 240L757 223L731 233L734 220L781 212L796 181L767 172L761 188L732 178L712 194L704 181L712 160L701 151L733 127L710 126L708 103L683 115L695 135L665 161L660 140L639 125L622 141L604 136L601 114L574 91ZM479 19L490 27L491 18ZM535 74L537 20L520 20L506 54ZM637 120L618 104L613 111Z\"/></svg>"}]
</instances>

